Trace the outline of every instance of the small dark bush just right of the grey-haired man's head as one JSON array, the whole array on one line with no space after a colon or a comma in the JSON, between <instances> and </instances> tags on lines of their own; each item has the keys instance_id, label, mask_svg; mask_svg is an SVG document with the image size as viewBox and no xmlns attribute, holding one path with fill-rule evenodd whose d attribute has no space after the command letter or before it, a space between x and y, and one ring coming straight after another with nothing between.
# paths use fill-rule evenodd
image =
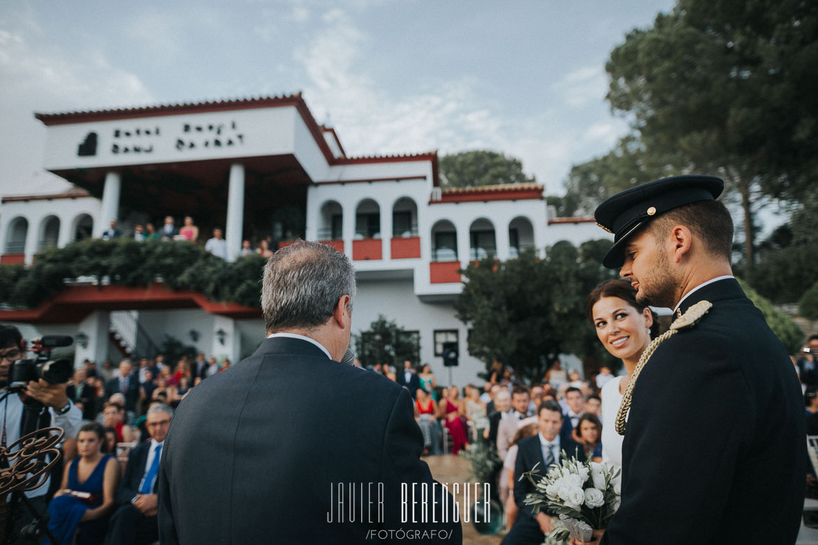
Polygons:
<instances>
[{"instance_id":1,"label":"small dark bush just right of the grey-haired man's head","mask_svg":"<svg viewBox=\"0 0 818 545\"><path fill-rule=\"evenodd\" d=\"M394 320L378 315L368 331L362 331L355 339L357 358L366 366L389 364L398 370L403 362L420 363L420 337L398 326Z\"/></svg>"}]
</instances>

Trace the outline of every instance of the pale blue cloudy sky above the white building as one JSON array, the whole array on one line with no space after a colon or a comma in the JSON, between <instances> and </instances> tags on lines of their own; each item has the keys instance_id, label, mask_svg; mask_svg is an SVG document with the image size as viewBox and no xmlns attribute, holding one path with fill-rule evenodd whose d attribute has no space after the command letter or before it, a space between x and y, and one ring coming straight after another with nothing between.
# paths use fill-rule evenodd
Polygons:
<instances>
[{"instance_id":1,"label":"pale blue cloudy sky above the white building","mask_svg":"<svg viewBox=\"0 0 818 545\"><path fill-rule=\"evenodd\" d=\"M490 149L561 194L626 123L605 60L672 0L0 0L0 194L42 172L34 112L303 92L349 155Z\"/></svg>"}]
</instances>

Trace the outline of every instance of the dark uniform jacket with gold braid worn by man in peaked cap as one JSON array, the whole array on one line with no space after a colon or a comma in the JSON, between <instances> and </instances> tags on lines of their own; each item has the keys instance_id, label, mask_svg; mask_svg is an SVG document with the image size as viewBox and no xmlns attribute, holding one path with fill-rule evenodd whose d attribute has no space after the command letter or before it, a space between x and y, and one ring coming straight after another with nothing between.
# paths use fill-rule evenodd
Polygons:
<instances>
[{"instance_id":1,"label":"dark uniform jacket with gold braid worn by man in peaked cap","mask_svg":"<svg viewBox=\"0 0 818 545\"><path fill-rule=\"evenodd\" d=\"M734 279L681 311L703 300L708 314L658 346L636 382L622 505L602 543L795 543L807 453L793 364Z\"/></svg>"}]
</instances>

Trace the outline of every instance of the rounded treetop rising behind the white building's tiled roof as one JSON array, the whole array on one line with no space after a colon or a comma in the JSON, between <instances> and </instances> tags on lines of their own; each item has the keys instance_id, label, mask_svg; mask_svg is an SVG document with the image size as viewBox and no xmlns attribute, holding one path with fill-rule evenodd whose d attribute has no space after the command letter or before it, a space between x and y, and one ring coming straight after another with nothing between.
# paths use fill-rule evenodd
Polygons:
<instances>
[{"instance_id":1,"label":"rounded treetop rising behind the white building's tiled roof","mask_svg":"<svg viewBox=\"0 0 818 545\"><path fill-rule=\"evenodd\" d=\"M533 182L526 176L519 159L496 151L475 150L440 158L441 185L465 187L479 185L515 184Z\"/></svg>"}]
</instances>

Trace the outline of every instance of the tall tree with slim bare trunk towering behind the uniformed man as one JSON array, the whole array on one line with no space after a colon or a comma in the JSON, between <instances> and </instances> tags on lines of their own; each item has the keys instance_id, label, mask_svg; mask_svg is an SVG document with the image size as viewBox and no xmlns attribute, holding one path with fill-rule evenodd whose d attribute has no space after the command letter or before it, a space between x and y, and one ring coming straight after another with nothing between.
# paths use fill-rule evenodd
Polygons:
<instances>
[{"instance_id":1,"label":"tall tree with slim bare trunk towering behind the uniformed man","mask_svg":"<svg viewBox=\"0 0 818 545\"><path fill-rule=\"evenodd\" d=\"M679 0L611 52L608 100L644 154L673 172L725 178L744 210L798 198L816 175L818 3Z\"/></svg>"}]
</instances>

